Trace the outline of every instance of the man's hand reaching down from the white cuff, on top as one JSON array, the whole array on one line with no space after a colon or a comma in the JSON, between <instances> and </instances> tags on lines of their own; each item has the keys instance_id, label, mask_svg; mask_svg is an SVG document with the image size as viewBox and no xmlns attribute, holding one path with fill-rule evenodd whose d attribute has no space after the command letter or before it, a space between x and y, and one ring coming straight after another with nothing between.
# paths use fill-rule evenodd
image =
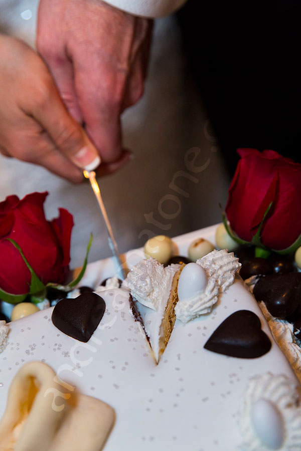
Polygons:
<instances>
[{"instance_id":1,"label":"man's hand reaching down from the white cuff, on top","mask_svg":"<svg viewBox=\"0 0 301 451\"><path fill-rule=\"evenodd\" d=\"M40 1L38 52L103 162L124 159L120 114L143 93L151 30L100 0Z\"/></svg>"}]
</instances>

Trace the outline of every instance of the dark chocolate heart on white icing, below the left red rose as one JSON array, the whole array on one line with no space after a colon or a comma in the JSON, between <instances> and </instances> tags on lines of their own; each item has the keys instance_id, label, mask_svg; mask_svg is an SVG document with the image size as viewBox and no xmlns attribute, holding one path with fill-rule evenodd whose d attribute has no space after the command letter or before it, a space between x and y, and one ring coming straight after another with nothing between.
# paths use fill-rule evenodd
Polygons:
<instances>
[{"instance_id":1,"label":"dark chocolate heart on white icing, below the left red rose","mask_svg":"<svg viewBox=\"0 0 301 451\"><path fill-rule=\"evenodd\" d=\"M52 322L64 334L86 343L100 323L104 300L95 293L62 299L53 309Z\"/></svg>"}]
</instances>

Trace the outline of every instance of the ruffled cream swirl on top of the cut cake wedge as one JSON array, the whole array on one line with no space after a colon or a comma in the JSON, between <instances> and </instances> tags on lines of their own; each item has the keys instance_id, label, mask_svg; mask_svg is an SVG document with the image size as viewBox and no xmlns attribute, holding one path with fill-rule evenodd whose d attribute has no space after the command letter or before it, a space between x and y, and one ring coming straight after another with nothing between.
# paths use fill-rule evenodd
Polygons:
<instances>
[{"instance_id":1,"label":"ruffled cream swirl on top of the cut cake wedge","mask_svg":"<svg viewBox=\"0 0 301 451\"><path fill-rule=\"evenodd\" d=\"M167 268L155 259L141 260L128 273L125 286L133 298L145 307L162 310L169 298L172 282L180 265Z\"/></svg>"}]
</instances>

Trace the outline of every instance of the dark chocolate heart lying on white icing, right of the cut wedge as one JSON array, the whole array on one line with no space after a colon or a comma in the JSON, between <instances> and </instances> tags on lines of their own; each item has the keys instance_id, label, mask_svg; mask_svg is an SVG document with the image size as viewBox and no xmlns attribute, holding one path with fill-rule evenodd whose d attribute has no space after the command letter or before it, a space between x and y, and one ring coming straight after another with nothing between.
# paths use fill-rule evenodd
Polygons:
<instances>
[{"instance_id":1,"label":"dark chocolate heart lying on white icing, right of the cut wedge","mask_svg":"<svg viewBox=\"0 0 301 451\"><path fill-rule=\"evenodd\" d=\"M204 348L231 357L254 359L266 354L271 342L261 330L260 319L255 313L238 310L218 326Z\"/></svg>"}]
</instances>

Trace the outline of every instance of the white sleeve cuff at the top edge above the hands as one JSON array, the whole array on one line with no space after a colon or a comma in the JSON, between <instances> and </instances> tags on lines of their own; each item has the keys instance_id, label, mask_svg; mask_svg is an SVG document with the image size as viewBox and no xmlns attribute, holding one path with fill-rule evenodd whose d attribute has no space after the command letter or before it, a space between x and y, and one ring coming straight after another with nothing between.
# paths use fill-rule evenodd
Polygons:
<instances>
[{"instance_id":1,"label":"white sleeve cuff at the top edge above the hands","mask_svg":"<svg viewBox=\"0 0 301 451\"><path fill-rule=\"evenodd\" d=\"M134 16L158 18L179 9L186 0L103 0L105 3Z\"/></svg>"}]
</instances>

